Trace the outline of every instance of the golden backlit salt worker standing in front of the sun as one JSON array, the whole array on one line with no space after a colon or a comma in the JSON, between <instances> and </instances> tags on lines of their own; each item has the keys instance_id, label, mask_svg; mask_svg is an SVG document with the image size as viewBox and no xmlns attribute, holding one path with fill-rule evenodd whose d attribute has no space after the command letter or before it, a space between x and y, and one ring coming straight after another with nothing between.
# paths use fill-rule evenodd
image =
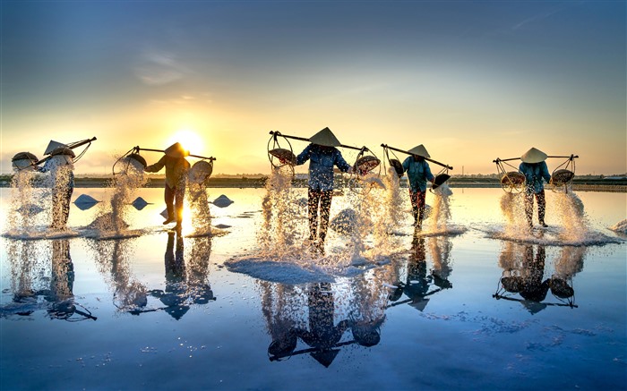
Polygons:
<instances>
[{"instance_id":1,"label":"golden backlit salt worker standing in front of the sun","mask_svg":"<svg viewBox=\"0 0 627 391\"><path fill-rule=\"evenodd\" d=\"M167 219L163 224L176 221L176 229L181 228L183 220L183 200L185 198L185 180L190 164L185 157L189 152L176 142L165 150L165 155L157 163L144 168L147 173L159 173L166 167L166 186L164 200L166 201ZM176 207L176 210L175 210Z\"/></svg>"}]
</instances>

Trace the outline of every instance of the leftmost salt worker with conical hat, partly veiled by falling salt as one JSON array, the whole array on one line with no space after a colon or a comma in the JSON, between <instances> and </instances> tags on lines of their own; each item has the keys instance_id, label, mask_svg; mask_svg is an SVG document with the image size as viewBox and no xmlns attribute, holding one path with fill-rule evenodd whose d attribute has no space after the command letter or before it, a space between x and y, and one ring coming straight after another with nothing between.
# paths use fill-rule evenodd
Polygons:
<instances>
[{"instance_id":1,"label":"leftmost salt worker with conical hat, partly veiled by falling salt","mask_svg":"<svg viewBox=\"0 0 627 391\"><path fill-rule=\"evenodd\" d=\"M38 168L42 173L50 173L52 180L51 228L63 229L70 216L70 200L74 191L74 157L72 149L59 147L52 151L44 166Z\"/></svg>"}]
</instances>

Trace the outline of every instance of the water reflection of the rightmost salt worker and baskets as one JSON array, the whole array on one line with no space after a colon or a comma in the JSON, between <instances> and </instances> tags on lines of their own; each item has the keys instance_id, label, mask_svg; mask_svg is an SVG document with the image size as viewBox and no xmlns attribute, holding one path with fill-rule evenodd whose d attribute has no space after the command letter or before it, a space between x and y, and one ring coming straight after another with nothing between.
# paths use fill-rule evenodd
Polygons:
<instances>
[{"instance_id":1,"label":"water reflection of the rightmost salt worker and baskets","mask_svg":"<svg viewBox=\"0 0 627 391\"><path fill-rule=\"evenodd\" d=\"M532 314L547 306L577 307L572 277L583 269L586 248L563 246L560 251L553 275L545 278L545 246L505 242L499 257L502 277L493 297L521 302ZM558 302L545 302L549 291Z\"/></svg>"}]
</instances>

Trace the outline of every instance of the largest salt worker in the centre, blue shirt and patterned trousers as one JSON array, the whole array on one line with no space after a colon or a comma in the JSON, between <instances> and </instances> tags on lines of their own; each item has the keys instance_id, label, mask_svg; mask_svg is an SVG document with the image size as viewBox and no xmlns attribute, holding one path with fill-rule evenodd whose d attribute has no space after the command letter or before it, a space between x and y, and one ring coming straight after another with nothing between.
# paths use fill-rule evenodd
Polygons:
<instances>
[{"instance_id":1,"label":"largest salt worker in the centre, blue shirt and patterned trousers","mask_svg":"<svg viewBox=\"0 0 627 391\"><path fill-rule=\"evenodd\" d=\"M309 163L309 191L307 208L309 210L309 241L314 249L324 253L324 239L329 227L331 200L333 198L333 166L343 173L352 172L342 154L341 144L329 128L324 128L312 136L303 152L296 157L296 166ZM318 223L320 215L320 223Z\"/></svg>"}]
</instances>

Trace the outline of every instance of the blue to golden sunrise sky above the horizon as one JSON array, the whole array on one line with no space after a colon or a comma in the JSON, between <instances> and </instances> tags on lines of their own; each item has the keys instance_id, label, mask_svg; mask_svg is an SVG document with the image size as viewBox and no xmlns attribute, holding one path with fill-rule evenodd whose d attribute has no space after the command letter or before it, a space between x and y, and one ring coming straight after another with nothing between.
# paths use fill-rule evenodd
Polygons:
<instances>
[{"instance_id":1,"label":"blue to golden sunrise sky above the horizon","mask_svg":"<svg viewBox=\"0 0 627 391\"><path fill-rule=\"evenodd\" d=\"M423 144L450 174L495 174L531 147L579 156L577 174L627 172L624 1L0 7L3 174L18 152L91 137L77 174L177 140L216 174L267 174L269 132L324 127L380 158Z\"/></svg>"}]
</instances>

